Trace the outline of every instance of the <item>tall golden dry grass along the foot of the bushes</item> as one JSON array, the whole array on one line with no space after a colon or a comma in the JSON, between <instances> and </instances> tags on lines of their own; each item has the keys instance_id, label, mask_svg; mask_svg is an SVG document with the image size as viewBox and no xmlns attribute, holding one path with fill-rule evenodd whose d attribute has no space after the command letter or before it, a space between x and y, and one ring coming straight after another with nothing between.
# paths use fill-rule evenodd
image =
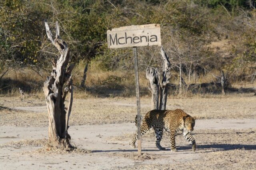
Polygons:
<instances>
[{"instance_id":1,"label":"tall golden dry grass along the foot of the bushes","mask_svg":"<svg viewBox=\"0 0 256 170\"><path fill-rule=\"evenodd\" d=\"M133 70L115 70L115 71L104 71L98 69L94 65L89 65L88 73L86 78L86 89L81 89L80 82L82 80L84 63L79 63L73 72L73 82L78 98L85 97L132 97L135 96L135 80ZM50 68L49 68L50 69ZM40 75L39 75L40 74ZM21 68L19 70L11 70L2 79L0 84L0 96L19 96L18 88L21 87L27 96L36 96L38 98L44 98L42 86L46 80L46 76L50 74L50 70L41 70L40 72L35 72L30 68ZM192 83L205 83L212 82L215 80L214 75L219 75L218 70L212 70L206 73L204 76L200 75L198 78L190 77L190 84ZM150 96L150 91L148 90L148 80L146 79L146 74L144 71L139 73L140 77L140 94L142 96ZM179 84L179 74L177 72L172 72L171 83ZM182 75L184 80L188 83L188 75ZM253 87L256 83L250 82L236 82L232 84L234 88L242 87ZM213 90L213 89L212 89ZM204 90L201 90L204 93ZM216 89L213 90L216 92ZM217 90L220 91L220 90ZM171 92L169 94L174 94L177 96L178 92ZM184 95L194 96L190 92L186 92ZM208 95L208 94L206 94ZM211 94L210 94L211 95Z\"/></svg>"}]
</instances>

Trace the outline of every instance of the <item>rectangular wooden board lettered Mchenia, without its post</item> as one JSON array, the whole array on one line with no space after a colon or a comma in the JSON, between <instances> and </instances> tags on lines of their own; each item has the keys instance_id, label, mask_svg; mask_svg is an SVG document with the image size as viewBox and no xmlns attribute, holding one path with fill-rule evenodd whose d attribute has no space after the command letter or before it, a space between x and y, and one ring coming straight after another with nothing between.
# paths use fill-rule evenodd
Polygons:
<instances>
[{"instance_id":1,"label":"rectangular wooden board lettered Mchenia, without its post","mask_svg":"<svg viewBox=\"0 0 256 170\"><path fill-rule=\"evenodd\" d=\"M107 31L108 48L138 47L148 45L161 46L159 24L131 25Z\"/></svg>"}]
</instances>

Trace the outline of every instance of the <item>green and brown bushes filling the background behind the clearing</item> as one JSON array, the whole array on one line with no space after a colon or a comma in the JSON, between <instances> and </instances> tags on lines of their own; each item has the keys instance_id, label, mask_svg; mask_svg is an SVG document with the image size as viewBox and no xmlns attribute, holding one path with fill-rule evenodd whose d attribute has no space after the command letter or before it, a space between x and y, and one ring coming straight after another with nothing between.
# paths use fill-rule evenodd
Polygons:
<instances>
[{"instance_id":1,"label":"green and brown bushes filling the background behind the clearing","mask_svg":"<svg viewBox=\"0 0 256 170\"><path fill-rule=\"evenodd\" d=\"M223 69L232 84L254 83L256 10L254 0L2 0L0 4L0 93L42 91L58 57L45 33L44 20L61 26L62 39L76 63L77 88L86 62L86 90L130 96L134 92L132 49L108 49L106 31L126 25L159 23L162 45L179 62L188 84L210 82ZM142 93L145 69L161 67L159 47L138 48ZM79 90L80 88L78 88ZM83 89L81 89L83 90Z\"/></svg>"}]
</instances>

